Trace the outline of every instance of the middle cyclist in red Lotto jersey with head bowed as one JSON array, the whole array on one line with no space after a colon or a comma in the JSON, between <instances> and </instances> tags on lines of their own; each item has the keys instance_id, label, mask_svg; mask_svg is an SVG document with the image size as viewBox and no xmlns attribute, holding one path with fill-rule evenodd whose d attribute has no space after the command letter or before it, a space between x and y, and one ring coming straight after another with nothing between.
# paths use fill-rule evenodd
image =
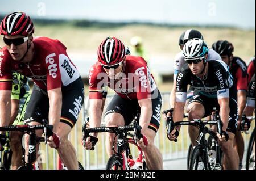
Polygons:
<instances>
[{"instance_id":1,"label":"middle cyclist in red Lotto jersey with head bowed","mask_svg":"<svg viewBox=\"0 0 256 181\"><path fill-rule=\"evenodd\" d=\"M144 151L149 169L163 169L162 154L154 145L160 125L161 94L146 61L142 57L125 54L125 46L116 37L106 38L98 47L98 62L89 72L90 127L100 126L102 86L107 85L116 94L104 114L106 126L129 125L140 112L139 125L143 137L138 140L138 145ZM97 137L97 134L92 136ZM113 133L106 137L109 157L113 154L114 137ZM92 148L90 137L86 138L84 147Z\"/></svg>"}]
</instances>

